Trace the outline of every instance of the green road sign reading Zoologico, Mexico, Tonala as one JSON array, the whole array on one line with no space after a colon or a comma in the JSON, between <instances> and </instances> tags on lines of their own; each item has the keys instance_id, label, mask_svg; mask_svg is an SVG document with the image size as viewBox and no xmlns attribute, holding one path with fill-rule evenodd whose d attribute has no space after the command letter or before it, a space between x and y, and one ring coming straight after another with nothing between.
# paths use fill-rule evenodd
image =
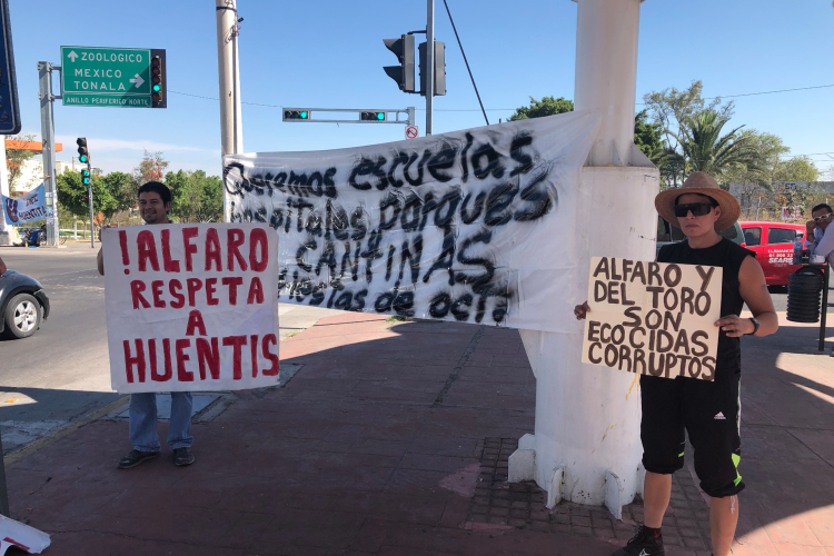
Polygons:
<instances>
[{"instance_id":1,"label":"green road sign reading Zoologico, Mexico, Tonala","mask_svg":"<svg viewBox=\"0 0 834 556\"><path fill-rule=\"evenodd\" d=\"M61 47L64 106L152 108L151 59L165 50Z\"/></svg>"}]
</instances>

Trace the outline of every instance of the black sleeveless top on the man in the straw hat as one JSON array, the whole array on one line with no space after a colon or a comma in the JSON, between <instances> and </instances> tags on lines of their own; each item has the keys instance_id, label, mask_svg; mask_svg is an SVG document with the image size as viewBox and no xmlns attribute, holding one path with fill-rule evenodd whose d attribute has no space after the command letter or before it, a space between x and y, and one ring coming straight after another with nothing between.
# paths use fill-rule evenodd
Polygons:
<instances>
[{"instance_id":1,"label":"black sleeveless top on the man in the straw hat","mask_svg":"<svg viewBox=\"0 0 834 556\"><path fill-rule=\"evenodd\" d=\"M756 254L749 249L722 238L712 247L693 249L688 240L663 246L657 254L657 262L676 262L678 265L706 265L724 269L721 291L721 316L741 315L744 299L738 291L738 270L747 257ZM729 338L724 330L718 335L718 357L716 357L715 377L741 373L741 338Z\"/></svg>"}]
</instances>

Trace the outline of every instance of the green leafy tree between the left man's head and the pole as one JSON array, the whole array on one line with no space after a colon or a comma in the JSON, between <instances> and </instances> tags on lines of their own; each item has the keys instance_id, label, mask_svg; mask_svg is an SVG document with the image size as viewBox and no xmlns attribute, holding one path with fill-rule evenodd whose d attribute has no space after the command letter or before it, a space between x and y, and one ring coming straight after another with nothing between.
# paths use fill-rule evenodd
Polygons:
<instances>
[{"instance_id":1,"label":"green leafy tree between the left man's head and the pole","mask_svg":"<svg viewBox=\"0 0 834 556\"><path fill-rule=\"evenodd\" d=\"M171 188L171 212L182 222L222 220L222 185L217 176L202 170L168 172L165 183Z\"/></svg>"}]
</instances>

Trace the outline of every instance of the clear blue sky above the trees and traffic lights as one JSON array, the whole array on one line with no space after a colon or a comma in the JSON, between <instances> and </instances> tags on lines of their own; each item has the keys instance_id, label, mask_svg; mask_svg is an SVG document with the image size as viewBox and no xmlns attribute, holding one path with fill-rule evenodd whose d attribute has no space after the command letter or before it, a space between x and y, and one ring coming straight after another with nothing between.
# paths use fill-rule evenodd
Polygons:
<instances>
[{"instance_id":1,"label":"clear blue sky above the trees and traffic lights","mask_svg":"<svg viewBox=\"0 0 834 556\"><path fill-rule=\"evenodd\" d=\"M529 97L573 98L576 4L569 0L448 0L490 122ZM89 138L93 165L130 171L142 149L170 169L220 170L215 2L10 0L23 131L40 136L39 60L61 44L165 48L168 108L64 107L56 102L59 160ZM425 27L425 0L239 0L241 98L276 106L425 108L383 71L396 64L384 38ZM637 98L704 81L706 97L834 85L831 0L648 0L643 4ZM447 96L435 132L484 123L443 1ZM419 36L418 36L419 37ZM419 42L419 39L418 39ZM56 79L56 86L58 79ZM834 88L742 97L731 123L781 136L796 155L834 152ZM638 107L639 108L639 107ZM443 111L443 110L471 111ZM499 110L505 109L505 110ZM425 112L417 112L420 130ZM420 121L421 120L421 121ZM318 150L403 139L401 126L282 123L279 108L244 106L246 151ZM812 157L825 169L834 161Z\"/></svg>"}]
</instances>

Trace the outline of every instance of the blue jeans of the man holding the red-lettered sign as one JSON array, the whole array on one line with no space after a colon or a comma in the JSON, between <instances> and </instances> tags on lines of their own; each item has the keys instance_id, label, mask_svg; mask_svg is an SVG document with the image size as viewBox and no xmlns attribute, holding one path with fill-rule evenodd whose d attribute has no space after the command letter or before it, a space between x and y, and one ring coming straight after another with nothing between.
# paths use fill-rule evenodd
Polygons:
<instances>
[{"instance_id":1,"label":"blue jeans of the man holding the red-lettered sign","mask_svg":"<svg viewBox=\"0 0 834 556\"><path fill-rule=\"evenodd\" d=\"M157 395L130 395L130 444L139 451L159 451L157 434ZM171 393L171 423L168 430L168 445L172 449L188 448L193 437L191 430L191 393Z\"/></svg>"}]
</instances>

